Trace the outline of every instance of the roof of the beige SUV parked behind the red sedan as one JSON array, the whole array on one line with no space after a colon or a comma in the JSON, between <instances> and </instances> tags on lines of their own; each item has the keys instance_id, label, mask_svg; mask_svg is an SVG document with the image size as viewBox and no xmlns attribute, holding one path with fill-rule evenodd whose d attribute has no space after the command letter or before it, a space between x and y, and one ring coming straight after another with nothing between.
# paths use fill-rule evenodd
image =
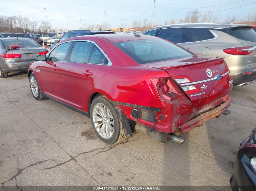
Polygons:
<instances>
[{"instance_id":1,"label":"roof of the beige SUV parked behind the red sedan","mask_svg":"<svg viewBox=\"0 0 256 191\"><path fill-rule=\"evenodd\" d=\"M207 28L228 28L228 27L242 27L248 26L252 27L252 25L247 24L216 24L216 23L180 23L180 24L167 24L161 25L158 27L154 27L149 30L160 29L160 28L169 28L169 27L207 27ZM147 30L147 31L149 31Z\"/></svg>"}]
</instances>

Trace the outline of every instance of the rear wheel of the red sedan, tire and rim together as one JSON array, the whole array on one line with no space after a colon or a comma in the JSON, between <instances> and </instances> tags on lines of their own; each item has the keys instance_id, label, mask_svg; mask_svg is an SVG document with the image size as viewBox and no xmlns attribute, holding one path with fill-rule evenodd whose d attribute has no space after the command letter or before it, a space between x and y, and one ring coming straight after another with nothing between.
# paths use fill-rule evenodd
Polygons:
<instances>
[{"instance_id":1,"label":"rear wheel of the red sedan, tire and rim together","mask_svg":"<svg viewBox=\"0 0 256 191\"><path fill-rule=\"evenodd\" d=\"M111 145L126 137L125 129L112 105L105 97L96 97L90 109L91 124L98 138Z\"/></svg>"}]
</instances>

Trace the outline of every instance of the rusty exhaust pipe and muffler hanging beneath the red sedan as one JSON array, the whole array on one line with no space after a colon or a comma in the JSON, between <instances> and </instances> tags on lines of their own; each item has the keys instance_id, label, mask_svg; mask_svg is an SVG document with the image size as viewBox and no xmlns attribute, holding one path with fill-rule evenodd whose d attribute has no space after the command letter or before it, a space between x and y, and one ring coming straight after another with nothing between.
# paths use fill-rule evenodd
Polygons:
<instances>
[{"instance_id":1,"label":"rusty exhaust pipe and muffler hanging beneath the red sedan","mask_svg":"<svg viewBox=\"0 0 256 191\"><path fill-rule=\"evenodd\" d=\"M164 133L164 132L158 132L158 131L150 131L150 128L147 128L146 126L140 124L140 123L136 123L135 126L135 130L138 132L141 132L145 135L154 137L155 140L161 142L161 143L165 143L169 140L172 140L175 143L178 143L179 145L181 145L186 139L182 138L178 135L170 135L168 133Z\"/></svg>"}]
</instances>

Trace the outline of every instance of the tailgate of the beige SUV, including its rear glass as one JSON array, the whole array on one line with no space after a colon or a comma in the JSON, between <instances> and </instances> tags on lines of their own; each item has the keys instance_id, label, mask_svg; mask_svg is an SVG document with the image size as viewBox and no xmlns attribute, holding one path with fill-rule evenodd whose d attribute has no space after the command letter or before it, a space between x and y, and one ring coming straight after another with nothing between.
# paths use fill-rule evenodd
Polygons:
<instances>
[{"instance_id":1,"label":"tailgate of the beige SUV, including its rear glass","mask_svg":"<svg viewBox=\"0 0 256 191\"><path fill-rule=\"evenodd\" d=\"M230 35L238 38L245 49L251 53L246 55L246 69L256 69L256 32L251 27L235 27L229 31Z\"/></svg>"}]
</instances>

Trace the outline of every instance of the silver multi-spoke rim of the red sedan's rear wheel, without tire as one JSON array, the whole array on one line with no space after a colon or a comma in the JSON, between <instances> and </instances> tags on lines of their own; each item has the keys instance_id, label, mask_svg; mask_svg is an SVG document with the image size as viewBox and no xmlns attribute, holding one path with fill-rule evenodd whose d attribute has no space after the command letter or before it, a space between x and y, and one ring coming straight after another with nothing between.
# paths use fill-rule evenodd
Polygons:
<instances>
[{"instance_id":1,"label":"silver multi-spoke rim of the red sedan's rear wheel, without tire","mask_svg":"<svg viewBox=\"0 0 256 191\"><path fill-rule=\"evenodd\" d=\"M93 124L102 138L109 139L114 133L113 116L103 103L97 103L93 108Z\"/></svg>"}]
</instances>

